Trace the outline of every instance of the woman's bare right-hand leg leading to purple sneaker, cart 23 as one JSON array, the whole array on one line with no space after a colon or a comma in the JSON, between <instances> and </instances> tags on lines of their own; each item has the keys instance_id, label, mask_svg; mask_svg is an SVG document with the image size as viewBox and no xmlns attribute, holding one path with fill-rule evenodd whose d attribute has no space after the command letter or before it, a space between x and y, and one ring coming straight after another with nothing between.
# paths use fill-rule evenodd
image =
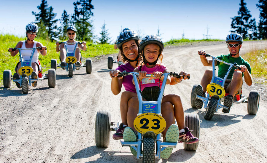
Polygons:
<instances>
[{"instance_id":1,"label":"woman's bare right-hand leg leading to purple sneaker, cart 23","mask_svg":"<svg viewBox=\"0 0 267 163\"><path fill-rule=\"evenodd\" d=\"M162 103L165 103L166 101L169 101L172 105L174 105L174 117L177 121L179 130L184 129L185 117L180 96L176 94L166 95L162 98Z\"/></svg>"}]
</instances>

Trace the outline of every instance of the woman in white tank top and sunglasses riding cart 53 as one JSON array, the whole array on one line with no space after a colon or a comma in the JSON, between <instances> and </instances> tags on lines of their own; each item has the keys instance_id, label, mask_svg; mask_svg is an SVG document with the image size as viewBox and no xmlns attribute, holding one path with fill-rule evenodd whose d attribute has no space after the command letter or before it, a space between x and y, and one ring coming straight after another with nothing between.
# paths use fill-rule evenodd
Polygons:
<instances>
[{"instance_id":1,"label":"woman in white tank top and sunglasses riding cart 53","mask_svg":"<svg viewBox=\"0 0 267 163\"><path fill-rule=\"evenodd\" d=\"M38 32L38 25L35 23L28 23L26 25L26 38L25 41L19 41L18 44L16 45L15 48L34 48L34 47L42 47L42 49L36 49L32 58L32 63L31 66L33 68L33 72L31 73L31 78L32 79L37 79L37 74L38 74L38 70L39 70L39 64L38 64L38 56L39 56L39 52L41 53L41 55L46 55L47 51L46 51L46 46L43 46L42 43L34 41L35 37L37 36L37 32ZM12 57L14 57L15 55L18 54L19 50L15 50L12 51L12 48L9 48L10 54ZM24 60L30 60L30 56L31 56L31 50L21 50L21 55L23 57ZM20 60L21 61L21 60ZM21 67L21 62L19 62L17 64L17 70L20 69ZM13 75L13 79L20 79L20 76L18 75L18 73L14 73ZM17 87L21 88L20 84L17 84ZM37 86L37 81L34 81L32 83L33 87Z\"/></svg>"}]
</instances>

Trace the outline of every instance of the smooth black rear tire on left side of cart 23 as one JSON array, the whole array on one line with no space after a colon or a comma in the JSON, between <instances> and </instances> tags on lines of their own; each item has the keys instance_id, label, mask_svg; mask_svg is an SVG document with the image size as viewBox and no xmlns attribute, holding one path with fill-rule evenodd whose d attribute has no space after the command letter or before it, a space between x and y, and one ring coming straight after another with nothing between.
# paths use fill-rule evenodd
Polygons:
<instances>
[{"instance_id":1,"label":"smooth black rear tire on left side of cart 23","mask_svg":"<svg viewBox=\"0 0 267 163\"><path fill-rule=\"evenodd\" d=\"M109 111L101 110L96 114L95 143L97 147L108 147L110 136L111 114Z\"/></svg>"}]
</instances>

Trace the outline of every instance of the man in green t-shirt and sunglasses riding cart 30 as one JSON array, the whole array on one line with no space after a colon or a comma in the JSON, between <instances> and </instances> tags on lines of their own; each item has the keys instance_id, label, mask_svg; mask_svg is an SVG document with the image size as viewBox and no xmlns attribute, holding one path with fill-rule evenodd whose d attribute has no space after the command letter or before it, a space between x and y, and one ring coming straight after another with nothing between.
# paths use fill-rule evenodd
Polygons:
<instances>
[{"instance_id":1,"label":"man in green t-shirt and sunglasses riding cart 30","mask_svg":"<svg viewBox=\"0 0 267 163\"><path fill-rule=\"evenodd\" d=\"M243 80L242 77L244 76L245 82L247 85L252 84L252 76L251 76L251 67L247 61L245 61L240 55L239 51L242 47L243 38L239 33L230 33L226 37L227 47L229 49L230 54L228 55L219 55L217 56L218 59L223 60L228 63L237 63L241 70L232 68L226 81L225 81L225 92L229 93L224 99L224 106L228 106L228 109L222 109L222 112L229 113L231 106L233 105L233 96L236 95L236 92L241 90ZM205 54L206 52L203 50L198 51L200 55L201 62L204 66L212 66L212 59L207 59ZM227 73L229 65L217 62L215 60L215 65L218 66L218 76L220 78L224 78L225 73ZM201 86L196 87L200 92L203 89L206 92L207 85L211 82L212 79L212 70L207 69L204 73L204 76L201 79ZM239 92L240 93L240 92ZM202 96L202 95L201 95ZM197 99L199 100L199 99ZM201 100L202 102L202 100Z\"/></svg>"}]
</instances>

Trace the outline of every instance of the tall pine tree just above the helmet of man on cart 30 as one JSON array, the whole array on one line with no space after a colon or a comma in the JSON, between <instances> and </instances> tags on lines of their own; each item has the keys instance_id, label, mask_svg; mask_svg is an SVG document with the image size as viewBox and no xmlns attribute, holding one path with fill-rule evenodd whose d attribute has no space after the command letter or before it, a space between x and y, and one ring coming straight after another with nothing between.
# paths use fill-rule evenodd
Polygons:
<instances>
[{"instance_id":1,"label":"tall pine tree just above the helmet of man on cart 30","mask_svg":"<svg viewBox=\"0 0 267 163\"><path fill-rule=\"evenodd\" d=\"M241 3L239 5L241 7L237 12L238 16L231 17L231 28L233 28L231 32L240 33L243 36L243 39L247 39L250 27L249 18L251 17L251 14L250 11L247 9L247 3L245 3L244 0L241 0Z\"/></svg>"}]
</instances>

